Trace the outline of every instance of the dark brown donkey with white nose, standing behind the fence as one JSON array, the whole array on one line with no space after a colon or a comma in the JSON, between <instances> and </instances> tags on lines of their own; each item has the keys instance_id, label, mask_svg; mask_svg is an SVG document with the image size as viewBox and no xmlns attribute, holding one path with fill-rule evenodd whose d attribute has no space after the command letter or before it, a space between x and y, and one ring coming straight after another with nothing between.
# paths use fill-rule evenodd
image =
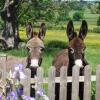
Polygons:
<instances>
[{"instance_id":1,"label":"dark brown donkey with white nose, standing behind the fence","mask_svg":"<svg viewBox=\"0 0 100 100\"><path fill-rule=\"evenodd\" d=\"M85 20L82 21L82 25L80 28L79 35L74 31L73 22L69 21L67 25L67 36L69 38L68 49L62 50L60 53L56 55L53 60L52 65L56 67L56 76L60 75L60 68L62 66L68 67L68 76L72 75L72 68L74 65L80 67L80 75L84 75L84 67L88 65L85 60L85 44L84 38L87 35L87 22ZM80 100L83 100L83 87L84 83L79 83L79 97ZM71 100L71 89L72 83L68 83L67 85L67 100ZM56 83L55 90L55 100L59 100L59 83Z\"/></svg>"}]
</instances>

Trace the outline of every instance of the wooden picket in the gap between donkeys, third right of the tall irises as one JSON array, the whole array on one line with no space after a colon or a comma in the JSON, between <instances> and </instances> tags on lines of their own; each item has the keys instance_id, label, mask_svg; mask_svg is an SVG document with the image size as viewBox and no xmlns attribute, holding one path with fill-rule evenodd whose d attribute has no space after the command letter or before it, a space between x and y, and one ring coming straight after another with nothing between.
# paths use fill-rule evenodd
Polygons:
<instances>
[{"instance_id":1,"label":"wooden picket in the gap between donkeys, third right of the tall irises","mask_svg":"<svg viewBox=\"0 0 100 100\"><path fill-rule=\"evenodd\" d=\"M49 100L55 100L55 67L51 67L48 73L48 96Z\"/></svg>"}]
</instances>

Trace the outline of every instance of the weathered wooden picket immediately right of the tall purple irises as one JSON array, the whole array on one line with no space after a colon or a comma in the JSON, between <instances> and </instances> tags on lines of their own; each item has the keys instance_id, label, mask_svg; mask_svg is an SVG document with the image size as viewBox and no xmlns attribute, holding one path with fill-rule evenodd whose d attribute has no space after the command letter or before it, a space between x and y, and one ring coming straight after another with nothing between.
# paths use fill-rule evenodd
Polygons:
<instances>
[{"instance_id":1,"label":"weathered wooden picket immediately right of the tall purple irises","mask_svg":"<svg viewBox=\"0 0 100 100\"><path fill-rule=\"evenodd\" d=\"M30 96L30 84L31 84L31 71L30 69L25 69L25 75L27 75L26 79L23 80L23 86L24 86L24 94L26 96Z\"/></svg>"}]
</instances>

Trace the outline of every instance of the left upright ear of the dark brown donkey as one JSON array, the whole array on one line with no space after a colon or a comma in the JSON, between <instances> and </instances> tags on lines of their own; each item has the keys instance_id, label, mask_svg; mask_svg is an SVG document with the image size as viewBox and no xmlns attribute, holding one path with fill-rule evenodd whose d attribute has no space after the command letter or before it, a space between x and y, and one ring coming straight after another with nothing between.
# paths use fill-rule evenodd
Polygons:
<instances>
[{"instance_id":1,"label":"left upright ear of the dark brown donkey","mask_svg":"<svg viewBox=\"0 0 100 100\"><path fill-rule=\"evenodd\" d=\"M74 32L74 25L72 20L68 22L66 33L69 38L69 41L72 40L75 36L77 36L77 34Z\"/></svg>"}]
</instances>

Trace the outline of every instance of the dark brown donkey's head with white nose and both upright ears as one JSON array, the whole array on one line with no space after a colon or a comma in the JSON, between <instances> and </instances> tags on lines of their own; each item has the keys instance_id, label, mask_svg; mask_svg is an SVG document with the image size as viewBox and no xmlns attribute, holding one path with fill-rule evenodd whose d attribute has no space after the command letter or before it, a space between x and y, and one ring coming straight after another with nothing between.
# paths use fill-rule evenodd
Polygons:
<instances>
[{"instance_id":1,"label":"dark brown donkey's head with white nose and both upright ears","mask_svg":"<svg viewBox=\"0 0 100 100\"><path fill-rule=\"evenodd\" d=\"M69 63L71 65L77 65L79 67L85 66L84 51L86 46L84 44L84 39L87 35L87 30L88 26L85 20L82 21L79 35L74 31L72 21L69 21L67 25L67 36L69 38Z\"/></svg>"}]
</instances>

